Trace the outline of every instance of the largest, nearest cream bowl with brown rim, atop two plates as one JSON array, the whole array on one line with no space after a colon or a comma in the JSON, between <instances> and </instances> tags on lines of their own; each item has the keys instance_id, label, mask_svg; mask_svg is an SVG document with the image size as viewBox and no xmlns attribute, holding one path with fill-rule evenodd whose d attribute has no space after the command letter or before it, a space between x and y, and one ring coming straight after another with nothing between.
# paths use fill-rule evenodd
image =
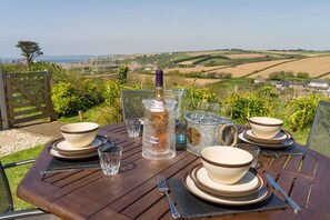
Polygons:
<instances>
[{"instance_id":1,"label":"largest, nearest cream bowl with brown rim, atop two plates","mask_svg":"<svg viewBox=\"0 0 330 220\"><path fill-rule=\"evenodd\" d=\"M222 184L238 182L248 172L253 160L248 151L228 146L207 147L200 154L209 176Z\"/></svg>"}]
</instances>

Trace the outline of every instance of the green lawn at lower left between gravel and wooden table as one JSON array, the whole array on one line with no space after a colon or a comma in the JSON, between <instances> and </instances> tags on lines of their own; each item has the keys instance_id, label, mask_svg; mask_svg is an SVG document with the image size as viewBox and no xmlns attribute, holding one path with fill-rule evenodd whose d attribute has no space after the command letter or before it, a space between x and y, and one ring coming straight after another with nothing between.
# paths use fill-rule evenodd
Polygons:
<instances>
[{"instance_id":1,"label":"green lawn at lower left between gravel and wooden table","mask_svg":"<svg viewBox=\"0 0 330 220\"><path fill-rule=\"evenodd\" d=\"M30 148L27 150L21 150L21 151L18 151L18 152L14 152L9 156L4 156L4 157L0 158L0 161L2 164L6 164L6 163L10 163L10 162L17 162L20 160L37 158L43 148L44 148L44 144L37 146L37 147L33 147L33 148ZM13 207L16 210L33 207L30 203L19 199L16 196L18 184L20 183L20 181L22 180L22 178L28 172L28 170L30 169L31 166L32 166L32 163L29 163L29 164L23 164L23 166L18 166L18 167L6 169L6 174L8 177L10 190L11 190L11 193L13 197L13 204L14 204Z\"/></svg>"}]
</instances>

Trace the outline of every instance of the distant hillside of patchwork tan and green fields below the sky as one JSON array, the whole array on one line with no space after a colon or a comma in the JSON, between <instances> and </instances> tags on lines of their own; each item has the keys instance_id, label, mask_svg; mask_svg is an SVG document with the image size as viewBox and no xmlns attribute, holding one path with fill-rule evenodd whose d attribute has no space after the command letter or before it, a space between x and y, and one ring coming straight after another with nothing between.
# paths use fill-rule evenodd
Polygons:
<instances>
[{"instance_id":1,"label":"distant hillside of patchwork tan and green fields below the sky","mask_svg":"<svg viewBox=\"0 0 330 220\"><path fill-rule=\"evenodd\" d=\"M166 73L183 73L188 78L201 79L220 79L223 76L268 78L277 71L308 72L312 78L329 78L330 51L226 49L109 56L91 62L108 69L128 66L132 71L161 68Z\"/></svg>"}]
</instances>

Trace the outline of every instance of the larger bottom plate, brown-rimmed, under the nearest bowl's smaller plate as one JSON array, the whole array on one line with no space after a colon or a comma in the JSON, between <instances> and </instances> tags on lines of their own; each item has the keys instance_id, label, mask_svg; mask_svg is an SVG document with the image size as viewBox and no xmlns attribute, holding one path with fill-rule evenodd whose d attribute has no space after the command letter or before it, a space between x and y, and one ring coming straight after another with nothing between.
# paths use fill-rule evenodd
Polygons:
<instances>
[{"instance_id":1,"label":"larger bottom plate, brown-rimmed, under the nearest bowl's smaller plate","mask_svg":"<svg viewBox=\"0 0 330 220\"><path fill-rule=\"evenodd\" d=\"M247 206L247 204L253 204L261 201L264 201L272 194L272 188L270 184L267 184L267 187L258 190L253 194L249 194L247 197L236 197L236 198L229 198L229 197L220 197L214 196L211 193L207 193L206 191L200 190L193 182L193 180L190 178L189 172L187 172L183 176L183 186L189 190L192 194L204 199L210 202L219 203L219 204L227 204L227 206Z\"/></svg>"}]
</instances>

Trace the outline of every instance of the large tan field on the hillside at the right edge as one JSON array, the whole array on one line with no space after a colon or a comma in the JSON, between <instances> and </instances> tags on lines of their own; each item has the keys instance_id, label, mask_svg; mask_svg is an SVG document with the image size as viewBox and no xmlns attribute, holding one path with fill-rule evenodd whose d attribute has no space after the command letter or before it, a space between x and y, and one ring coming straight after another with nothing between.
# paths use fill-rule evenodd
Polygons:
<instances>
[{"instance_id":1,"label":"large tan field on the hillside at the right edge","mask_svg":"<svg viewBox=\"0 0 330 220\"><path fill-rule=\"evenodd\" d=\"M306 58L297 61L283 63L261 72L258 72L258 76L267 78L270 73L277 71L292 71L297 72L308 72L310 78L317 78L321 74L329 72L329 74L323 76L322 78L330 77L330 56L329 57L314 57Z\"/></svg>"}]
</instances>

